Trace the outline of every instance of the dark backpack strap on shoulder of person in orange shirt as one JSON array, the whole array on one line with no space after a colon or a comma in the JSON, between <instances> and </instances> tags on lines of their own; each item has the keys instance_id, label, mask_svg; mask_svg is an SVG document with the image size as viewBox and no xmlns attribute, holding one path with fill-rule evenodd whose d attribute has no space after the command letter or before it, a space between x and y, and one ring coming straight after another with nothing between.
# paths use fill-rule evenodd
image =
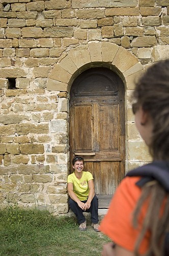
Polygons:
<instances>
[{"instance_id":1,"label":"dark backpack strap on shoulder of person in orange shirt","mask_svg":"<svg viewBox=\"0 0 169 256\"><path fill-rule=\"evenodd\" d=\"M136 184L142 187L145 183L157 180L164 189L169 192L169 163L165 161L154 161L147 165L143 165L134 170L131 170L126 176L141 176Z\"/></svg>"}]
</instances>

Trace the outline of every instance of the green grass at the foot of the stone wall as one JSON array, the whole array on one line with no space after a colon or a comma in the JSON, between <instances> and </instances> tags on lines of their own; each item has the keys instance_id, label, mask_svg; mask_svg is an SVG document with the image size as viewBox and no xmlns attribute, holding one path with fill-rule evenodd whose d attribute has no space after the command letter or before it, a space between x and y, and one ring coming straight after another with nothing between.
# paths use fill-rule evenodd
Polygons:
<instances>
[{"instance_id":1,"label":"green grass at the foot of the stone wall","mask_svg":"<svg viewBox=\"0 0 169 256\"><path fill-rule=\"evenodd\" d=\"M87 231L79 231L73 217L8 207L0 210L0 255L100 255L109 239L87 224Z\"/></svg>"}]
</instances>

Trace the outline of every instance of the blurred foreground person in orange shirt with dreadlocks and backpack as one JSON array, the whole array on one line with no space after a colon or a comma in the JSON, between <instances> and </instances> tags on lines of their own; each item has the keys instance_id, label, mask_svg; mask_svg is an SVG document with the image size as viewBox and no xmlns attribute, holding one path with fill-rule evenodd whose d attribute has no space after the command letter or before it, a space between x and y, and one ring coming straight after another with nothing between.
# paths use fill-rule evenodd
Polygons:
<instances>
[{"instance_id":1,"label":"blurred foreground person in orange shirt with dreadlocks and backpack","mask_svg":"<svg viewBox=\"0 0 169 256\"><path fill-rule=\"evenodd\" d=\"M127 173L100 230L112 243L102 256L169 255L169 60L154 63L136 83L132 105L153 161Z\"/></svg>"}]
</instances>

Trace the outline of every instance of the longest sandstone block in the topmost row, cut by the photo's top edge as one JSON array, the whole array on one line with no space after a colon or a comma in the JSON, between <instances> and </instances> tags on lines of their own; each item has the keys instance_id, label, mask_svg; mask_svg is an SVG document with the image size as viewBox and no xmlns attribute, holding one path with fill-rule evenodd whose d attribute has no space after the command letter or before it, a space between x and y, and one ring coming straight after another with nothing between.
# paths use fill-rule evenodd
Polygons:
<instances>
[{"instance_id":1,"label":"longest sandstone block in the topmost row, cut by the photo's top edge","mask_svg":"<svg viewBox=\"0 0 169 256\"><path fill-rule=\"evenodd\" d=\"M111 1L111 0L99 0L99 7L136 7L137 0L121 0L121 1Z\"/></svg>"}]
</instances>

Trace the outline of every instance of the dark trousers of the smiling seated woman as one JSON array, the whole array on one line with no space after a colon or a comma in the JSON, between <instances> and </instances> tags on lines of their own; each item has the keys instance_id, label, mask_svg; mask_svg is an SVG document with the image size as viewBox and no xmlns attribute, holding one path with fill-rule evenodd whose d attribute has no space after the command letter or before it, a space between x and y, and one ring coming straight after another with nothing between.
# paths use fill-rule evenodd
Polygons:
<instances>
[{"instance_id":1,"label":"dark trousers of the smiling seated woman","mask_svg":"<svg viewBox=\"0 0 169 256\"><path fill-rule=\"evenodd\" d=\"M81 202L86 203L87 200L81 201ZM78 206L78 204L75 201L73 201L71 198L69 199L69 205L70 205L71 210L74 212L74 214L77 218L78 224L86 221L85 216L83 215L83 212L85 210L82 210ZM91 213L92 223L98 223L99 222L99 219L98 219L98 198L96 196L94 196L94 198L91 202L91 207L86 211Z\"/></svg>"}]
</instances>

